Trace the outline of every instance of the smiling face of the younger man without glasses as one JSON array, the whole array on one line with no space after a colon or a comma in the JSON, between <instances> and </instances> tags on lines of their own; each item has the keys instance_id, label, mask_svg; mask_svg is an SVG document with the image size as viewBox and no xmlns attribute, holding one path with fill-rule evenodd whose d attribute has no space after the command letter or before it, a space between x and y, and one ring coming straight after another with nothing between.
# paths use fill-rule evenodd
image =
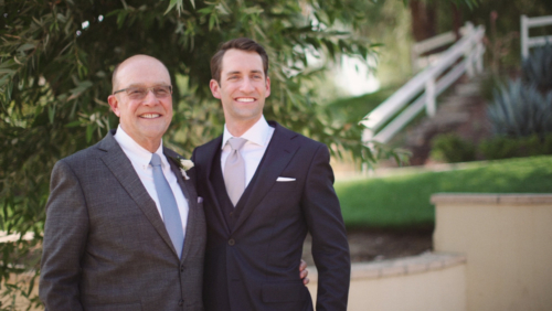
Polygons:
<instances>
[{"instance_id":1,"label":"smiling face of the younger man without glasses","mask_svg":"<svg viewBox=\"0 0 552 311\"><path fill-rule=\"evenodd\" d=\"M221 83L211 79L210 87L213 96L221 99L229 129L248 129L263 115L265 98L270 95L270 78L265 76L261 55L232 49L222 58Z\"/></svg>"}]
</instances>

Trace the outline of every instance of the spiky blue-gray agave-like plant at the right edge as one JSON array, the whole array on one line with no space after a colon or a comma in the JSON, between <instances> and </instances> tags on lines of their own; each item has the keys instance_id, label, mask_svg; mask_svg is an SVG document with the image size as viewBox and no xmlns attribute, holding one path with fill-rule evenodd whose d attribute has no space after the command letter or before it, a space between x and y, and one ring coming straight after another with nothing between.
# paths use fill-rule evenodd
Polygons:
<instances>
[{"instance_id":1,"label":"spiky blue-gray agave-like plant at the right edge","mask_svg":"<svg viewBox=\"0 0 552 311\"><path fill-rule=\"evenodd\" d=\"M495 89L487 115L498 136L544 137L552 132L552 92L541 95L534 84L510 81Z\"/></svg>"}]
</instances>

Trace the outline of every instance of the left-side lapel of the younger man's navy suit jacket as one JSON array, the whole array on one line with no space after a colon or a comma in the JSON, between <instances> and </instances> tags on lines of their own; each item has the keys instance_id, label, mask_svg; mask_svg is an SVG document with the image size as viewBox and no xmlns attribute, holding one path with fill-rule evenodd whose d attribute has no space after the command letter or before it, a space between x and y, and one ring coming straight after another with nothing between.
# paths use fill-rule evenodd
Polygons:
<instances>
[{"instance_id":1,"label":"left-side lapel of the younger man's navy suit jacket","mask_svg":"<svg viewBox=\"0 0 552 311\"><path fill-rule=\"evenodd\" d=\"M225 230L230 232L229 225L224 219L224 215L222 215L222 208L221 208L221 203L219 202L219 195L216 195L214 186L211 183L211 173L213 171L212 165L220 165L221 163L221 159L214 159L221 146L222 146L222 136L208 142L204 146L204 151L201 154L197 154L195 161L198 162L198 165L204 168L202 175L198 178L203 179L203 181L200 180L200 183L204 183L206 185L206 190L209 191L209 196L213 200L213 203L215 204L215 206L211 208L214 208L214 213L216 214L219 222L224 226ZM208 207L208 205L205 206Z\"/></svg>"}]
</instances>

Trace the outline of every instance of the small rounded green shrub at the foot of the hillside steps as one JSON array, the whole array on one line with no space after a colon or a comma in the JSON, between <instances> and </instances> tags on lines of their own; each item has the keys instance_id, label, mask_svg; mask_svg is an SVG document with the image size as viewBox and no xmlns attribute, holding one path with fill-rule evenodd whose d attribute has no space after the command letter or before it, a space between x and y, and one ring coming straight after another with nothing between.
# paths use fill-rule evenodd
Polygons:
<instances>
[{"instance_id":1,"label":"small rounded green shrub at the foot of the hillside steps","mask_svg":"<svg viewBox=\"0 0 552 311\"><path fill-rule=\"evenodd\" d=\"M443 133L432 139L431 157L448 163L468 162L476 159L476 148L456 133Z\"/></svg>"}]
</instances>

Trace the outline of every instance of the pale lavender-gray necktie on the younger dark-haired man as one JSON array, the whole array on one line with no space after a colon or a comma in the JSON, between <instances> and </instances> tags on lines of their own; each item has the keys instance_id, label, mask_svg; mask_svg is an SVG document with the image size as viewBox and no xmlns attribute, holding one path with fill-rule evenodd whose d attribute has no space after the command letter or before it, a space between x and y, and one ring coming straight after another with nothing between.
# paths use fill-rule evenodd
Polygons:
<instances>
[{"instance_id":1,"label":"pale lavender-gray necktie on the younger dark-haired man","mask_svg":"<svg viewBox=\"0 0 552 311\"><path fill-rule=\"evenodd\" d=\"M234 206L236 206L237 201L240 201L245 190L245 162L242 153L240 153L240 149L242 149L246 141L246 139L237 137L229 139L232 151L230 151L224 164L224 184L226 185L230 201L232 201Z\"/></svg>"}]
</instances>

